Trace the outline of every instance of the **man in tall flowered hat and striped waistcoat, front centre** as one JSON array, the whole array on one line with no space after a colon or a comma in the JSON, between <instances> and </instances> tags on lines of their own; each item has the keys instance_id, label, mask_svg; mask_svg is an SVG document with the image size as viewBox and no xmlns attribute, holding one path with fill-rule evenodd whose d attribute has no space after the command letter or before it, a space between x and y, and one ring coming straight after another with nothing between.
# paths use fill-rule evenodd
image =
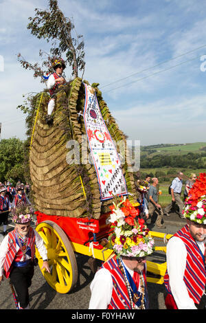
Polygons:
<instances>
[{"instance_id":1,"label":"man in tall flowered hat and striped waistcoat, front centre","mask_svg":"<svg viewBox=\"0 0 206 323\"><path fill-rule=\"evenodd\" d=\"M109 241L115 254L91 282L89 309L148 309L146 256L154 251L154 241L133 209L125 199L114 204Z\"/></svg>"}]
</instances>

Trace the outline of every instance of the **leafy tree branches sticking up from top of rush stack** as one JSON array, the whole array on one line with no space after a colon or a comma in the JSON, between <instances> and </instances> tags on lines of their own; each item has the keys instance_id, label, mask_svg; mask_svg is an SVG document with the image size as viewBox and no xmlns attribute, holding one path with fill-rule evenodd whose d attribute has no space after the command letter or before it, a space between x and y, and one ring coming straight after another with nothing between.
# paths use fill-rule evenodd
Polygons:
<instances>
[{"instance_id":1,"label":"leafy tree branches sticking up from top of rush stack","mask_svg":"<svg viewBox=\"0 0 206 323\"><path fill-rule=\"evenodd\" d=\"M39 52L39 55L47 58L43 61L42 67L38 64L31 64L18 55L19 62L25 69L34 70L34 78L45 74L50 74L52 69L52 60L60 58L63 54L66 56L66 61L73 68L72 75L78 77L78 71L83 71L84 74L84 41L82 35L77 34L75 26L71 19L65 17L58 7L57 0L49 0L48 10L35 9L34 18L29 17L30 23L27 28L31 34L37 38L45 38L47 43L52 41L52 48L49 54ZM43 78L42 78L42 81Z\"/></svg>"}]
</instances>

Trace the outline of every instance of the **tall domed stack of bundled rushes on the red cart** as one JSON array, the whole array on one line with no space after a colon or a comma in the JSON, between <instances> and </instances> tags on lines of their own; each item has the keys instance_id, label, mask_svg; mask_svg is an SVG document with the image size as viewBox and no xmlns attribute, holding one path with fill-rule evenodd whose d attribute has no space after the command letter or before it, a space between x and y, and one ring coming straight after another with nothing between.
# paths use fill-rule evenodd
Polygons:
<instances>
[{"instance_id":1,"label":"tall domed stack of bundled rushes on the red cart","mask_svg":"<svg viewBox=\"0 0 206 323\"><path fill-rule=\"evenodd\" d=\"M87 81L84 81L87 82ZM87 82L88 83L88 82ZM88 83L89 84L89 83ZM118 129L98 84L91 85L96 92L102 117L115 142L126 142L126 136ZM41 101L41 102L40 102ZM84 111L84 85L76 78L60 87L56 93L54 124L45 122L47 102L46 92L36 97L36 113L32 124L32 144L30 150L30 177L36 208L48 215L99 219L108 212L111 200L100 201L100 190L95 168L92 164L67 164L69 140L77 140L82 153L82 135L86 135L84 119L78 113ZM39 109L38 109L39 107ZM89 151L88 151L89 153ZM133 173L128 172L128 156L123 166L124 177L132 202L137 201Z\"/></svg>"}]
</instances>

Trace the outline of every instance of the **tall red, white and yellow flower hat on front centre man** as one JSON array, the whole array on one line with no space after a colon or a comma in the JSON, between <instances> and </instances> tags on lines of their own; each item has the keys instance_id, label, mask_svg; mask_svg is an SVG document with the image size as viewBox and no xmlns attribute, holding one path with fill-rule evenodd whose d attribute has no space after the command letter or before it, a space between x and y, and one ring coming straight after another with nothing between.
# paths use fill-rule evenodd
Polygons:
<instances>
[{"instance_id":1,"label":"tall red, white and yellow flower hat on front centre man","mask_svg":"<svg viewBox=\"0 0 206 323\"><path fill-rule=\"evenodd\" d=\"M108 241L117 258L144 257L152 254L155 241L148 234L149 229L144 219L135 219L139 210L136 210L126 197L121 197L119 203L113 202L111 211L108 221L113 232Z\"/></svg>"}]
</instances>

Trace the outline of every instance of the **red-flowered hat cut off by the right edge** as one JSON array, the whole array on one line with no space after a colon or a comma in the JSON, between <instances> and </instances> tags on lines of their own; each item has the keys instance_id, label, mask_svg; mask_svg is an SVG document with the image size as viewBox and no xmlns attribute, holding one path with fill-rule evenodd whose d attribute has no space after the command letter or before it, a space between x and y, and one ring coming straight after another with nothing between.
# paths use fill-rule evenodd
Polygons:
<instances>
[{"instance_id":1,"label":"red-flowered hat cut off by the right edge","mask_svg":"<svg viewBox=\"0 0 206 323\"><path fill-rule=\"evenodd\" d=\"M183 208L185 219L206 224L206 174L200 173L189 191Z\"/></svg>"}]
</instances>

